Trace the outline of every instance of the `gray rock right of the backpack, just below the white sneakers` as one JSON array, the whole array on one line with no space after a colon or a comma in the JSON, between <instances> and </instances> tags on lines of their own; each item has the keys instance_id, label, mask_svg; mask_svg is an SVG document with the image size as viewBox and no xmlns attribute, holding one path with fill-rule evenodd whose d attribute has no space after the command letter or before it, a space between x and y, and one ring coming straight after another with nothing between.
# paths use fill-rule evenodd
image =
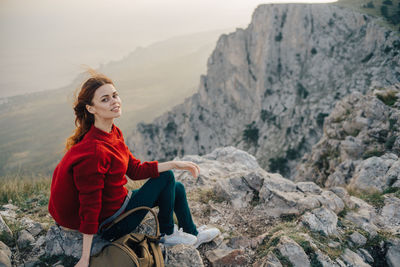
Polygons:
<instances>
[{"instance_id":1,"label":"gray rock right of the backpack, just below the white sneakers","mask_svg":"<svg viewBox=\"0 0 400 267\"><path fill-rule=\"evenodd\" d=\"M177 245L167 250L166 267L203 267L203 260L193 246Z\"/></svg>"}]
</instances>

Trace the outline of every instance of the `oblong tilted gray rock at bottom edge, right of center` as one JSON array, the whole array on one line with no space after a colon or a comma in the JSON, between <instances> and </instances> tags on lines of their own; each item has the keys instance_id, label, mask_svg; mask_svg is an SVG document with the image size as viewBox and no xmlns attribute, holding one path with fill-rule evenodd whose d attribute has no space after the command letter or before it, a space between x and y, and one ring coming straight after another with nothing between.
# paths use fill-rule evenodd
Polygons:
<instances>
[{"instance_id":1,"label":"oblong tilted gray rock at bottom edge, right of center","mask_svg":"<svg viewBox=\"0 0 400 267\"><path fill-rule=\"evenodd\" d=\"M308 260L307 254L289 237L281 237L278 249L283 256L289 259L294 267L310 266L310 261Z\"/></svg>"}]
</instances>

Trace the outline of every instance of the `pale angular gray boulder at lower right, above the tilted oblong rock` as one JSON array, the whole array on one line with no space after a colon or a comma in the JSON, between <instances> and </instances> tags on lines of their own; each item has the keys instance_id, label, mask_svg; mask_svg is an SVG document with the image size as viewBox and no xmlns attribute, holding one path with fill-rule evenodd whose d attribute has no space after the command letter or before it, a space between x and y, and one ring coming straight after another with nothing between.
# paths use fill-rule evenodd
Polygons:
<instances>
[{"instance_id":1,"label":"pale angular gray boulder at lower right, above the tilted oblong rock","mask_svg":"<svg viewBox=\"0 0 400 267\"><path fill-rule=\"evenodd\" d=\"M322 231L325 235L337 235L337 216L327 208L314 209L301 217L301 222L312 231Z\"/></svg>"}]
</instances>

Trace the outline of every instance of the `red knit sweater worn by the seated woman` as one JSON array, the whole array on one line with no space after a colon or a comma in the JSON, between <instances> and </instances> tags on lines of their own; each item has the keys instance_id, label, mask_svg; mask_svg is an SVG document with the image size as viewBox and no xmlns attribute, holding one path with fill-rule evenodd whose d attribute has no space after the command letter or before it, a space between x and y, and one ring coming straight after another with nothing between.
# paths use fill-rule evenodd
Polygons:
<instances>
[{"instance_id":1,"label":"red knit sweater worn by the seated woman","mask_svg":"<svg viewBox=\"0 0 400 267\"><path fill-rule=\"evenodd\" d=\"M122 206L127 195L125 174L133 180L158 177L158 162L136 159L115 125L111 133L93 125L54 170L51 216L61 226L95 234L99 223Z\"/></svg>"}]
</instances>

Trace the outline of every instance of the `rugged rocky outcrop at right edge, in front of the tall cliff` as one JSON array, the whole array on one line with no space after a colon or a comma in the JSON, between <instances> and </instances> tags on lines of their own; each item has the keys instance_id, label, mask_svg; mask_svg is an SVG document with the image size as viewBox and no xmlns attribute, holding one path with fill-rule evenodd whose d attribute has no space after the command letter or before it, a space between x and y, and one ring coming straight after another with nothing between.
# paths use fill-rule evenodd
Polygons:
<instances>
[{"instance_id":1,"label":"rugged rocky outcrop at right edge, in front of the tall cliff","mask_svg":"<svg viewBox=\"0 0 400 267\"><path fill-rule=\"evenodd\" d=\"M400 187L400 84L339 101L324 135L298 165L297 181L362 191Z\"/></svg>"}]
</instances>

